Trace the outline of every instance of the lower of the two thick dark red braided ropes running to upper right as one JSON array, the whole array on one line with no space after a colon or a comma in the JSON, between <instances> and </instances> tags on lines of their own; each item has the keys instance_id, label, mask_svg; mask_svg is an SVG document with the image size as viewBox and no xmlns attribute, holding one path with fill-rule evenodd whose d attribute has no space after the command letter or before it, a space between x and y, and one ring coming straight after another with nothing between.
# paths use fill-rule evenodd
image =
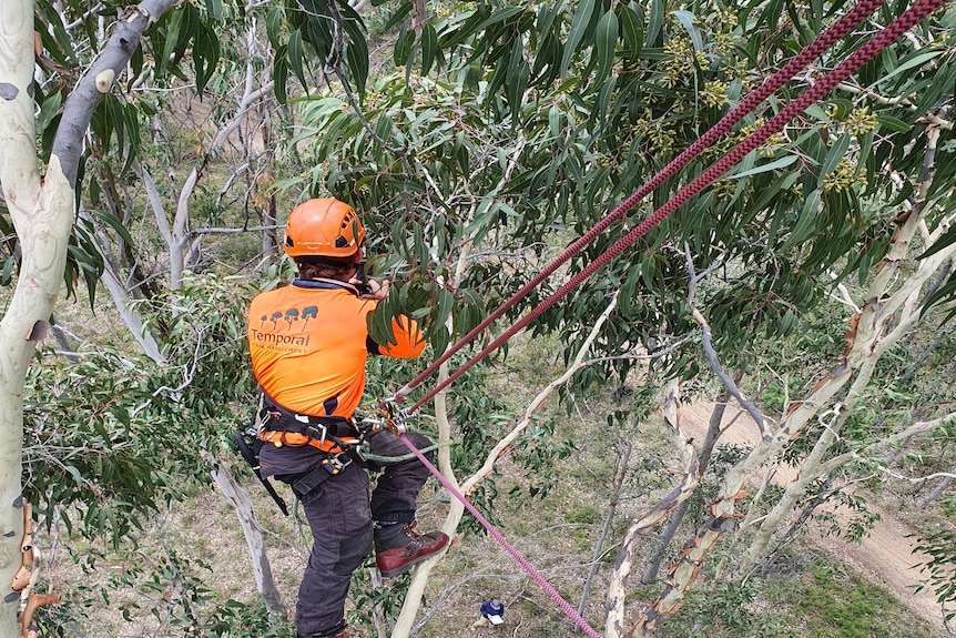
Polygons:
<instances>
[{"instance_id":1,"label":"lower of the two thick dark red braided ropes running to upper right","mask_svg":"<svg viewBox=\"0 0 956 638\"><path fill-rule=\"evenodd\" d=\"M757 146L763 144L772 134L783 130L783 128L794 118L796 118L800 113L802 113L805 109L821 100L824 95L826 95L830 91L832 91L837 84L846 80L851 73L856 71L860 67L868 62L873 59L879 51L888 47L893 43L897 38L899 38L903 33L909 30L913 26L918 23L921 20L929 16L933 11L942 7L946 0L919 0L907 9L902 16L899 16L896 20L891 22L887 27L881 30L876 36L869 39L863 47L854 51L848 58L846 58L843 62L841 62L834 70L830 71L822 80L816 82L813 87L811 87L806 92L801 94L796 100L787 104L780 113L770 119L763 126L751 133L746 139L743 140L740 144L734 146L734 149L724 155L716 163L712 164L706 171L701 173L695 180L693 180L690 184L678 191L678 193L671 199L667 204L654 211L654 213L645 219L643 222L638 224L632 231L630 231L627 235L618 240L608 251L602 253L598 259L588 264L588 266L582 270L580 273L574 275L570 281L565 283L560 288L558 288L555 293L552 293L548 298L538 304L530 313L525 315L521 320L516 322L510 328L501 333L495 341L488 344L481 352L476 354L469 361L467 361L460 368L458 368L454 374L449 375L444 382L436 385L431 391L429 391L424 397L421 397L418 402L416 402L411 407L409 407L406 412L411 414L420 408L425 403L435 397L439 392L458 381L461 375L464 375L469 368L471 368L476 363L478 363L484 357L488 356L491 352L497 350L501 344L507 342L509 338L515 336L519 331L526 327L528 324L538 318L545 311L555 305L561 297L567 295L573 288L581 284L584 280L590 277L594 272L599 269L603 267L611 260L621 254L624 249L637 242L640 237L642 237L648 231L660 224L663 220L665 220L671 213L673 213L677 209L685 204L690 201L691 198L700 193L704 188L710 185L713 181L720 178L724 172L733 168L738 162L743 160L747 153L754 151ZM848 16L848 13L847 13ZM643 190L643 189L642 189ZM641 191L639 191L641 192ZM634 194L637 195L637 193ZM632 195L628 199L628 201L634 200L637 198ZM633 204L632 204L633 205ZM623 206L623 204L622 204ZM590 233L588 233L590 234ZM583 237L582 237L583 239ZM590 240L589 240L590 241ZM581 243L579 240L577 243ZM537 279L537 277L536 277ZM523 288L522 288L523 290ZM482 322L485 325L485 322ZM477 328L476 328L477 330ZM472 331L475 332L475 331ZM470 335L471 333L469 333ZM466 335L467 336L467 335ZM439 361L446 361L447 357ZM437 362L436 362L437 363ZM434 367L435 364L433 364ZM429 373L430 374L430 373ZM421 375L419 375L421 376ZM420 382L419 382L420 383ZM413 385L406 386L414 387ZM403 391L399 391L399 395Z\"/></svg>"}]
</instances>

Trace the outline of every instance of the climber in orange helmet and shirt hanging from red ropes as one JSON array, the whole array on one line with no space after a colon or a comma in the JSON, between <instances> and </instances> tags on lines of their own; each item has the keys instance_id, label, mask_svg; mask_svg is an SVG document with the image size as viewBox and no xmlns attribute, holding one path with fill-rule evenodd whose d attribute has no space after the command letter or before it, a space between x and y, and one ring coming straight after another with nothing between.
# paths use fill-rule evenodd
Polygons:
<instances>
[{"instance_id":1,"label":"climber in orange helmet and shirt hanging from red ropes","mask_svg":"<svg viewBox=\"0 0 956 638\"><path fill-rule=\"evenodd\" d=\"M389 282L359 276L364 241L348 204L299 204L284 240L298 277L257 295L248 311L252 367L262 387L262 475L292 486L313 535L295 610L298 638L346 636L352 573L373 544L384 577L409 570L448 544L440 531L414 530L428 469L416 458L383 464L369 498L366 464L355 449L360 435L353 416L368 354L410 358L425 348L417 324L406 316L393 321L395 344L370 338L366 316L386 297ZM406 436L419 449L431 445L419 433ZM407 452L386 428L369 433L366 444L376 458Z\"/></svg>"}]
</instances>

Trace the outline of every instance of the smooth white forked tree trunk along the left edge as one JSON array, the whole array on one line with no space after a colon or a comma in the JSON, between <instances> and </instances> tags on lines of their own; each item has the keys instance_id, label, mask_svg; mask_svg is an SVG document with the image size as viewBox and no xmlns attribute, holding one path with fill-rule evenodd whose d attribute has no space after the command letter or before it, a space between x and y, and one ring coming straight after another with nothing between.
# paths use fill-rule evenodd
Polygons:
<instances>
[{"instance_id":1,"label":"smooth white forked tree trunk along the left edge","mask_svg":"<svg viewBox=\"0 0 956 638\"><path fill-rule=\"evenodd\" d=\"M146 24L174 4L145 0L135 14L118 22L109 45L68 99L41 179L31 87L33 0L0 1L0 184L23 255L13 297L0 321L0 638L20 632L20 596L11 583L21 564L23 536L23 381L63 281L83 135L102 99L95 79L112 65L122 70Z\"/></svg>"}]
</instances>

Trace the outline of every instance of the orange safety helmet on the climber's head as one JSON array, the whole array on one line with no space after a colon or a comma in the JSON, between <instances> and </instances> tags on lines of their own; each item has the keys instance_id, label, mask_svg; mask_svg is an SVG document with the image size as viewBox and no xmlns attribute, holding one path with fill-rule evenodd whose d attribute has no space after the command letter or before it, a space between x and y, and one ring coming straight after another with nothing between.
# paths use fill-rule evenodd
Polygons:
<instances>
[{"instance_id":1,"label":"orange safety helmet on the climber's head","mask_svg":"<svg viewBox=\"0 0 956 638\"><path fill-rule=\"evenodd\" d=\"M285 254L291 257L349 257L365 243L355 209L332 198L308 200L288 215Z\"/></svg>"}]
</instances>

